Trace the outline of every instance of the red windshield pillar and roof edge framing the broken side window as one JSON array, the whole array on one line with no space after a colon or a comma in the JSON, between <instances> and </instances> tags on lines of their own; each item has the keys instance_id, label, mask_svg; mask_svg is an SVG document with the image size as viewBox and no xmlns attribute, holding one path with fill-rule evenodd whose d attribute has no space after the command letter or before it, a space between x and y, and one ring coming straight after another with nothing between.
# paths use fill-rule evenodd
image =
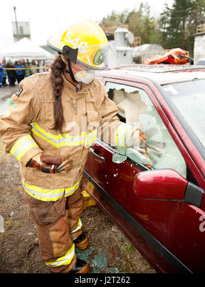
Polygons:
<instances>
[{"instance_id":1,"label":"red windshield pillar and roof edge framing the broken side window","mask_svg":"<svg viewBox=\"0 0 205 287\"><path fill-rule=\"evenodd\" d=\"M202 155L197 150L194 145L194 142L191 140L189 131L184 129L182 123L180 123L180 118L176 116L174 104L167 102L167 97L165 95L165 91L163 87L158 84L153 79L149 79L146 75L141 76L133 76L119 73L116 71L111 75L107 75L105 72L100 75L100 81L103 84L106 82L115 82L118 84L128 84L132 86L136 86L139 88L143 88L148 92L150 100L154 104L157 112L163 119L165 126L167 127L169 133L172 135L174 142L178 146L180 153L184 157L184 160L193 173L193 176L197 180L198 184L205 188L205 173L204 169L200 169L200 162L202 160ZM171 78L172 79L172 78ZM175 82L175 81L174 81ZM184 81L183 81L184 82ZM170 81L172 83L172 80ZM166 83L168 84L168 83Z\"/></svg>"}]
</instances>

